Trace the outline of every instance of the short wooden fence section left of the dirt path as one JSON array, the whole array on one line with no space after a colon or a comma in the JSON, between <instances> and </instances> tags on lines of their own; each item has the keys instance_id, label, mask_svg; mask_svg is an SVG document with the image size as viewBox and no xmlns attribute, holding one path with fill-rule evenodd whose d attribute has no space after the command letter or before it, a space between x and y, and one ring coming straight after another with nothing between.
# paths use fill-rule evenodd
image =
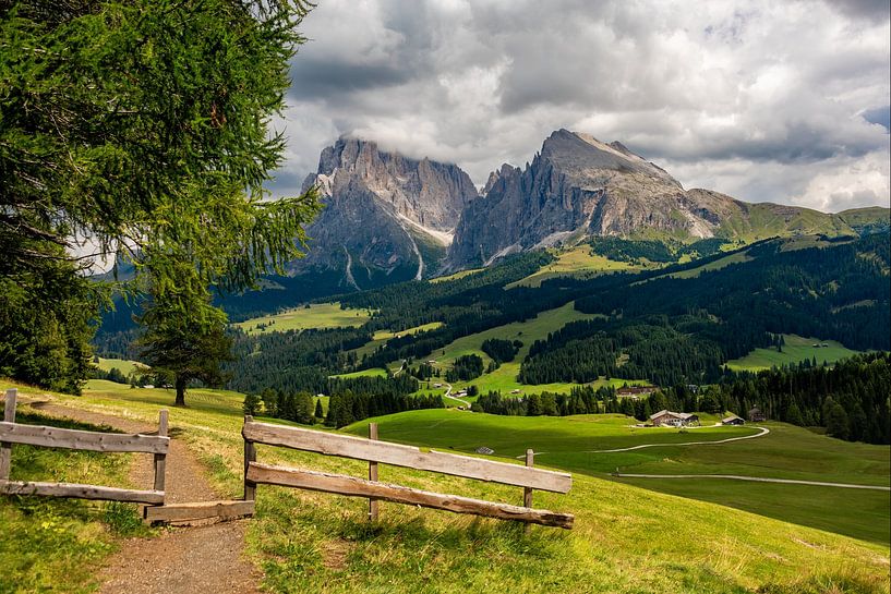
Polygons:
<instances>
[{"instance_id":1,"label":"short wooden fence section left of the dirt path","mask_svg":"<svg viewBox=\"0 0 891 594\"><path fill-rule=\"evenodd\" d=\"M164 474L170 438L167 437L167 411L160 411L158 435L124 435L75 429L62 429L44 425L15 423L15 402L19 392L7 390L3 422L0 423L0 493L8 495L48 495L77 497L137 504L164 504ZM48 448L89 450L104 452L145 452L155 456L155 482L150 490L123 489L98 485L71 483L39 483L10 481L12 446L27 444Z\"/></svg>"}]
</instances>

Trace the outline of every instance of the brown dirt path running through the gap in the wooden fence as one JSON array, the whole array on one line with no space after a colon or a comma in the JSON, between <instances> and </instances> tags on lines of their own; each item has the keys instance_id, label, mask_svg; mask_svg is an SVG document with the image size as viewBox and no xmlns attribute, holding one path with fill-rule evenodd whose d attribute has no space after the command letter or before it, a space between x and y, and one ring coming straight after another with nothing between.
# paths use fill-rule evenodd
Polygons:
<instances>
[{"instance_id":1,"label":"brown dirt path running through the gap in the wooden fence","mask_svg":"<svg viewBox=\"0 0 891 594\"><path fill-rule=\"evenodd\" d=\"M67 416L84 423L109 425L127 433L156 433L148 425L117 416L60 407L52 403L32 404L56 416ZM204 469L185 444L170 440L167 454L167 501L208 501L218 499L205 478ZM152 485L153 465L149 454L137 457L131 469L131 480L141 488ZM260 573L244 559L244 521L226 522L197 528L171 528L156 538L128 540L120 551L108 559L99 574L100 594L244 594L258 593Z\"/></svg>"}]
</instances>

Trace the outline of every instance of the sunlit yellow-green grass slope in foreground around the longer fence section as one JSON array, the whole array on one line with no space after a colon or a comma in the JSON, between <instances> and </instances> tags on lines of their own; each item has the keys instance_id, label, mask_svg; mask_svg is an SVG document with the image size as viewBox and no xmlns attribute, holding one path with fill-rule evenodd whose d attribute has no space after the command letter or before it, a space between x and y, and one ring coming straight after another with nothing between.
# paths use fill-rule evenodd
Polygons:
<instances>
[{"instance_id":1,"label":"sunlit yellow-green grass slope in foreground around the longer fence section","mask_svg":"<svg viewBox=\"0 0 891 594\"><path fill-rule=\"evenodd\" d=\"M91 381L67 405L157 419L164 390ZM196 391L197 392L197 391ZM443 412L456 416L472 413ZM212 471L241 492L240 400L201 391L171 409L171 427ZM388 438L384 433L384 438ZM363 475L358 461L260 449L260 460ZM540 460L545 464L544 458ZM520 489L383 466L382 480L519 502ZM262 485L246 522L249 554L270 592L305 593L744 593L888 591L889 549L731 508L577 474L567 495L537 492L537 506L576 514L570 532ZM17 545L16 553L23 553ZM56 554L53 549L50 554ZM63 554L62 551L58 551ZM22 570L19 570L22 571ZM13 581L19 573L13 573ZM60 578L64 589L68 575Z\"/></svg>"}]
</instances>

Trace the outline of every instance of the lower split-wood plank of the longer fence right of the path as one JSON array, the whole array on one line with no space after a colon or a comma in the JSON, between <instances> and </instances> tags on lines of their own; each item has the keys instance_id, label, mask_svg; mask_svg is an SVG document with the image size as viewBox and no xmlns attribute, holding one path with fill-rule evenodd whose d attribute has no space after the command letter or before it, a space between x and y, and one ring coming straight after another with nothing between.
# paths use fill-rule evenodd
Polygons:
<instances>
[{"instance_id":1,"label":"lower split-wood plank of the longer fence right of the path","mask_svg":"<svg viewBox=\"0 0 891 594\"><path fill-rule=\"evenodd\" d=\"M249 465L248 477L254 483L336 493L348 497L373 497L397 504L443 509L455 513L472 513L499 520L517 520L545 526L571 529L575 519L570 513L495 504L457 495L443 495L400 485L376 483L341 474L273 466L257 462Z\"/></svg>"}]
</instances>

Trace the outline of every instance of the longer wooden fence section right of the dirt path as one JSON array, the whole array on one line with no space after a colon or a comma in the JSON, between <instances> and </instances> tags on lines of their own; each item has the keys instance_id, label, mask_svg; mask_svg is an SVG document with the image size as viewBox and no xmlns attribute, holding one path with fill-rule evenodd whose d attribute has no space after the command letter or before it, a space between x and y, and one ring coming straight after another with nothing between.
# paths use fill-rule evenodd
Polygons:
<instances>
[{"instance_id":1,"label":"longer wooden fence section right of the dirt path","mask_svg":"<svg viewBox=\"0 0 891 594\"><path fill-rule=\"evenodd\" d=\"M532 450L527 451L526 466L494 462L480 458L457 456L438 451L423 452L411 446L376 440L376 426L370 426L370 439L325 433L284 425L257 423L244 417L244 499L253 500L257 484L334 493L351 497L368 497L371 501L369 516L377 517L376 501L394 501L443 509L456 513L473 513L502 520L573 528L574 517L543 509L532 509L532 489L567 493L573 485L571 475L532 468ZM256 461L256 444L282 446L297 450L338 456L369 462L369 480L342 474L329 474L286 466L263 464ZM457 495L431 493L401 485L377 481L377 465L392 464L416 470L440 472L466 478L477 478L523 487L523 506L471 499Z\"/></svg>"}]
</instances>

